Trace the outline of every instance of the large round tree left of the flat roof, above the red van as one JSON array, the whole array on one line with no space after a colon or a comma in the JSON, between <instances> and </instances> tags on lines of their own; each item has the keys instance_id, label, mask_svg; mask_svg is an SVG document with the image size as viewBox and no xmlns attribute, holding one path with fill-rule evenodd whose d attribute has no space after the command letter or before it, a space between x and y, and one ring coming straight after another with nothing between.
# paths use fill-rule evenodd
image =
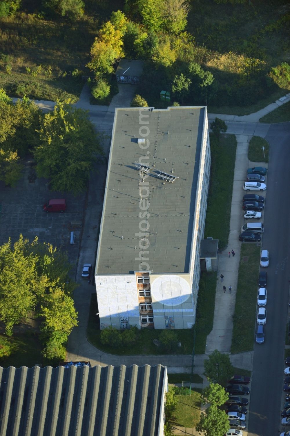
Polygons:
<instances>
[{"instance_id":1,"label":"large round tree left of the flat roof, above the red van","mask_svg":"<svg viewBox=\"0 0 290 436\"><path fill-rule=\"evenodd\" d=\"M83 191L97 153L102 153L87 111L58 101L38 133L40 145L33 150L37 175L49 178L54 191Z\"/></svg>"}]
</instances>

